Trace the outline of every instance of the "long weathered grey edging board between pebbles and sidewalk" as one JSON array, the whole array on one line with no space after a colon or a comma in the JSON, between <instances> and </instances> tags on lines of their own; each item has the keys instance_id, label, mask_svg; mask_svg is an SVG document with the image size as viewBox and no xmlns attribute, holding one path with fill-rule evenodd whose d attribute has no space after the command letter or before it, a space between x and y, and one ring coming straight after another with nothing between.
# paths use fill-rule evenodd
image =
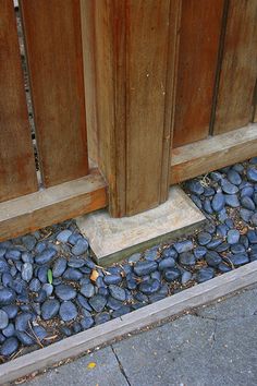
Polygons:
<instances>
[{"instance_id":1,"label":"long weathered grey edging board between pebbles and sidewalk","mask_svg":"<svg viewBox=\"0 0 257 386\"><path fill-rule=\"evenodd\" d=\"M12 382L59 361L82 354L86 350L94 349L125 334L207 304L255 282L257 282L257 261L36 352L1 364L0 384Z\"/></svg>"}]
</instances>

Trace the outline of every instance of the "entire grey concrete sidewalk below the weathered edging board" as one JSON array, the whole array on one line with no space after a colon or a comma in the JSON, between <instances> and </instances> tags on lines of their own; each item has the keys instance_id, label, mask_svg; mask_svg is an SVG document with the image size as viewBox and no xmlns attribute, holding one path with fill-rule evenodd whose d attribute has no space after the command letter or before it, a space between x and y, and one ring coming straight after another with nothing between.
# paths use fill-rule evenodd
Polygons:
<instances>
[{"instance_id":1,"label":"entire grey concrete sidewalk below the weathered edging board","mask_svg":"<svg viewBox=\"0 0 257 386\"><path fill-rule=\"evenodd\" d=\"M96 366L88 369L88 363ZM255 386L257 286L50 370L26 386Z\"/></svg>"}]
</instances>

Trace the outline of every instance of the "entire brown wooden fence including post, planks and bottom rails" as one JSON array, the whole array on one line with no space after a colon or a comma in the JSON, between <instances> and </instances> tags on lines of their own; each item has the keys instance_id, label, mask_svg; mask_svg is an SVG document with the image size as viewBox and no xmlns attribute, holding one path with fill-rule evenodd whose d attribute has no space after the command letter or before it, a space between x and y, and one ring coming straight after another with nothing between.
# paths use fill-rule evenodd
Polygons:
<instances>
[{"instance_id":1,"label":"entire brown wooden fence including post, planks and bottom rails","mask_svg":"<svg viewBox=\"0 0 257 386\"><path fill-rule=\"evenodd\" d=\"M170 184L257 155L256 0L20 11L39 170L15 11L1 0L0 240L107 205L133 215Z\"/></svg>"}]
</instances>

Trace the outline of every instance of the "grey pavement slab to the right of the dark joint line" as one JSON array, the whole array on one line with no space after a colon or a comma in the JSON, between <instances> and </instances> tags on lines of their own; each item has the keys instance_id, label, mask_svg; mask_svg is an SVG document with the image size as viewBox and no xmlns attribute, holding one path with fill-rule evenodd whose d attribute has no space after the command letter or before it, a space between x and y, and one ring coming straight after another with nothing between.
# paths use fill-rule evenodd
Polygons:
<instances>
[{"instance_id":1,"label":"grey pavement slab to the right of the dark joint line","mask_svg":"<svg viewBox=\"0 0 257 386\"><path fill-rule=\"evenodd\" d=\"M256 385L256 294L243 291L114 345L130 385Z\"/></svg>"}]
</instances>

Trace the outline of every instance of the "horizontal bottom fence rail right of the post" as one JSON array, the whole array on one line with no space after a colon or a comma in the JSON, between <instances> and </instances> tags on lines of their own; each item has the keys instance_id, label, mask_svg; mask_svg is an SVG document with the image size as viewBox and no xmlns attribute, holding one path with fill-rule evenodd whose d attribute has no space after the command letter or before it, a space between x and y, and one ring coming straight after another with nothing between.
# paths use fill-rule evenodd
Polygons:
<instances>
[{"instance_id":1,"label":"horizontal bottom fence rail right of the post","mask_svg":"<svg viewBox=\"0 0 257 386\"><path fill-rule=\"evenodd\" d=\"M170 184L257 155L257 123L172 150Z\"/></svg>"}]
</instances>

